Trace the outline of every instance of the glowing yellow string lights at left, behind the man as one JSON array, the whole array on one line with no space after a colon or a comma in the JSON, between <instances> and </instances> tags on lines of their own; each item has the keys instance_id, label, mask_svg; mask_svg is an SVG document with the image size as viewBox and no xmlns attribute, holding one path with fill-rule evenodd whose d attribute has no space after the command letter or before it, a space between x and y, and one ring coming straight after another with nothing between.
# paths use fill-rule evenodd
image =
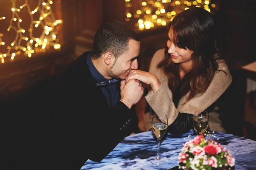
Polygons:
<instances>
[{"instance_id":1,"label":"glowing yellow string lights at left, behind the man","mask_svg":"<svg viewBox=\"0 0 256 170\"><path fill-rule=\"evenodd\" d=\"M61 48L61 45L58 43L59 40L56 37L57 31L55 27L62 23L62 20L55 20L51 7L53 3L52 0L38 0L38 5L33 10L31 10L28 0L25 0L25 3L19 7L16 7L16 0L11 1L12 18L10 19L10 24L7 31L14 30L16 32L16 36L12 43L8 46L2 40L5 38L5 35L0 33L0 46L6 45L7 48L6 53L1 53L0 51L0 59L2 63L5 62L6 57L15 59L15 57L21 54L21 52L23 52L23 54L26 56L31 57L35 52L35 48L41 47L41 49L45 49L47 46L52 46L56 50ZM27 10L30 15L31 23L29 23L29 28L27 30L20 26L22 19L19 16L19 13L22 10ZM35 18L35 13L40 14L38 18ZM0 22L1 20L6 20L6 17L0 16ZM35 37L33 33L39 26L43 31L38 37ZM29 32L28 37L24 35L26 31Z\"/></svg>"}]
</instances>

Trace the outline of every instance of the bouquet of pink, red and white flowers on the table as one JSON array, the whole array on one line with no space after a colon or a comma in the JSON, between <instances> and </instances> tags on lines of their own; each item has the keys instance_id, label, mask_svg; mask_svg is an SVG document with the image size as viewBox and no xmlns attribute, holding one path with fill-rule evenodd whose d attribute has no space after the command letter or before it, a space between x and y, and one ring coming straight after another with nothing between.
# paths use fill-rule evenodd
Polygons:
<instances>
[{"instance_id":1,"label":"bouquet of pink, red and white flowers on the table","mask_svg":"<svg viewBox=\"0 0 256 170\"><path fill-rule=\"evenodd\" d=\"M234 170L235 159L227 148L204 135L183 144L178 156L179 167L184 170Z\"/></svg>"}]
</instances>

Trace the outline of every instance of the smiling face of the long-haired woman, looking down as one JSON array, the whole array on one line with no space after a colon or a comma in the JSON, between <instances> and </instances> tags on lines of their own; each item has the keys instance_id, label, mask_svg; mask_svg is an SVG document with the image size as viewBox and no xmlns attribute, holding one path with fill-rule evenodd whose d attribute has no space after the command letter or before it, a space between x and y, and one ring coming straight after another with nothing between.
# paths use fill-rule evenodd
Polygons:
<instances>
[{"instance_id":1,"label":"smiling face of the long-haired woman, looking down","mask_svg":"<svg viewBox=\"0 0 256 170\"><path fill-rule=\"evenodd\" d=\"M194 51L191 51L188 48L183 49L175 46L175 44L172 42L173 40L172 28L170 28L168 32L168 37L169 37L169 40L167 40L167 47L168 47L168 53L172 57L172 62L186 63L186 64L192 65L191 55Z\"/></svg>"}]
</instances>

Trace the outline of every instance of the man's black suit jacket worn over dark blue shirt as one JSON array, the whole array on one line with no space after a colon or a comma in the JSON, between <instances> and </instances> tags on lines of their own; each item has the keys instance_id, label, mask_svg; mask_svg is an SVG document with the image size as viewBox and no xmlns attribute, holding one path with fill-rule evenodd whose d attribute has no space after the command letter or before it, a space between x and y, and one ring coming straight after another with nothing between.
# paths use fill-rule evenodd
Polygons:
<instances>
[{"instance_id":1,"label":"man's black suit jacket worn over dark blue shirt","mask_svg":"<svg viewBox=\"0 0 256 170\"><path fill-rule=\"evenodd\" d=\"M77 167L87 159L101 161L123 138L139 132L134 107L130 110L119 101L109 108L88 68L86 57L89 52L71 63L53 84L55 134L65 138L60 139L70 146L68 152L76 155L75 159L70 156L67 161L73 160Z\"/></svg>"}]
</instances>

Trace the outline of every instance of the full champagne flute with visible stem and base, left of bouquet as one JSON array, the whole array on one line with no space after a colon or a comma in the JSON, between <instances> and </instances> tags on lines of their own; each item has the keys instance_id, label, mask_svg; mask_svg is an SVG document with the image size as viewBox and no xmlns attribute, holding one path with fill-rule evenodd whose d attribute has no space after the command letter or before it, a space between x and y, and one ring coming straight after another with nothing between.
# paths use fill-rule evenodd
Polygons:
<instances>
[{"instance_id":1,"label":"full champagne flute with visible stem and base, left of bouquet","mask_svg":"<svg viewBox=\"0 0 256 170\"><path fill-rule=\"evenodd\" d=\"M163 156L159 156L160 141L166 133L168 127L168 118L164 113L154 113L152 118L152 130L157 137L157 156L152 156L150 162L152 164L160 165L166 163L166 159Z\"/></svg>"}]
</instances>

